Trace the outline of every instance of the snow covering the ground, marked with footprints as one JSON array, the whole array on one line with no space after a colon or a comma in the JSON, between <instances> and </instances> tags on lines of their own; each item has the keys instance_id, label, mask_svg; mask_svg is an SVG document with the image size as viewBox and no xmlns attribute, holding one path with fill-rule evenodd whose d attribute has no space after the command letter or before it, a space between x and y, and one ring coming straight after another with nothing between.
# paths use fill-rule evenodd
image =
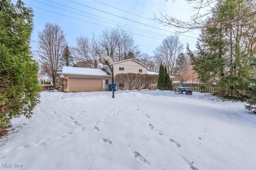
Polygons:
<instances>
[{"instance_id":1,"label":"snow covering the ground, marked with footprints","mask_svg":"<svg viewBox=\"0 0 256 170\"><path fill-rule=\"evenodd\" d=\"M159 90L46 91L40 101L0 139L1 170L256 169L256 115L242 102Z\"/></svg>"}]
</instances>

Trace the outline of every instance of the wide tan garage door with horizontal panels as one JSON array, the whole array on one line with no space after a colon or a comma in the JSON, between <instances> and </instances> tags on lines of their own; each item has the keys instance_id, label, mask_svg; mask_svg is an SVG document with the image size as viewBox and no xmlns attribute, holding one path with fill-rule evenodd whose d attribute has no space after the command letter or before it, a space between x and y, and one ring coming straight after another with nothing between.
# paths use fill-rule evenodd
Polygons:
<instances>
[{"instance_id":1,"label":"wide tan garage door with horizontal panels","mask_svg":"<svg viewBox=\"0 0 256 170\"><path fill-rule=\"evenodd\" d=\"M68 77L68 91L102 91L102 79Z\"/></svg>"}]
</instances>

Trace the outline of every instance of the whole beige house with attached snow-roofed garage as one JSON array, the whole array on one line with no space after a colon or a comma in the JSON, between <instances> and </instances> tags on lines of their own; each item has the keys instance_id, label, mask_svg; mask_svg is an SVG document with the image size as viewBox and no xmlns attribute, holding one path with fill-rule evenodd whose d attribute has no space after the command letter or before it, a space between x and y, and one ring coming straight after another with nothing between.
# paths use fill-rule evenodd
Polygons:
<instances>
[{"instance_id":1,"label":"whole beige house with attached snow-roofed garage","mask_svg":"<svg viewBox=\"0 0 256 170\"><path fill-rule=\"evenodd\" d=\"M96 63L96 62L95 62ZM126 59L115 62L114 77L120 73L141 73L156 74L156 72L147 71L148 67L135 59ZM106 91L108 85L112 83L112 72L108 65L100 67L100 69L66 67L62 69L64 78L68 79L68 92L71 91ZM172 77L172 76L170 76ZM116 87L118 89L118 87Z\"/></svg>"}]
</instances>

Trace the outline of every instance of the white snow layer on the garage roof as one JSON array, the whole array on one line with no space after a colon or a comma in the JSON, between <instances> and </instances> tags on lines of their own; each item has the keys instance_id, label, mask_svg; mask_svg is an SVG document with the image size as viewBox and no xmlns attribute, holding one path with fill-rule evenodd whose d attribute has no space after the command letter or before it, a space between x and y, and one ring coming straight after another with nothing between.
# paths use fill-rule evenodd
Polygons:
<instances>
[{"instance_id":1,"label":"white snow layer on the garage roof","mask_svg":"<svg viewBox=\"0 0 256 170\"><path fill-rule=\"evenodd\" d=\"M81 75L109 75L102 69L80 68L80 67L67 67L62 68L62 74L81 74Z\"/></svg>"}]
</instances>

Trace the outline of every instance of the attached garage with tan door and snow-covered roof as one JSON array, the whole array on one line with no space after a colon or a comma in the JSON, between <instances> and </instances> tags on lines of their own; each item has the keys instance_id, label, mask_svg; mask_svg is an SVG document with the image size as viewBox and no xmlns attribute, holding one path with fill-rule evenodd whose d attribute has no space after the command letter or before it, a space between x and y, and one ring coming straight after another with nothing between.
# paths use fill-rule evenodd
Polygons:
<instances>
[{"instance_id":1,"label":"attached garage with tan door and snow-covered roof","mask_svg":"<svg viewBox=\"0 0 256 170\"><path fill-rule=\"evenodd\" d=\"M67 91L105 91L111 75L102 69L67 67L62 69L68 79Z\"/></svg>"}]
</instances>

